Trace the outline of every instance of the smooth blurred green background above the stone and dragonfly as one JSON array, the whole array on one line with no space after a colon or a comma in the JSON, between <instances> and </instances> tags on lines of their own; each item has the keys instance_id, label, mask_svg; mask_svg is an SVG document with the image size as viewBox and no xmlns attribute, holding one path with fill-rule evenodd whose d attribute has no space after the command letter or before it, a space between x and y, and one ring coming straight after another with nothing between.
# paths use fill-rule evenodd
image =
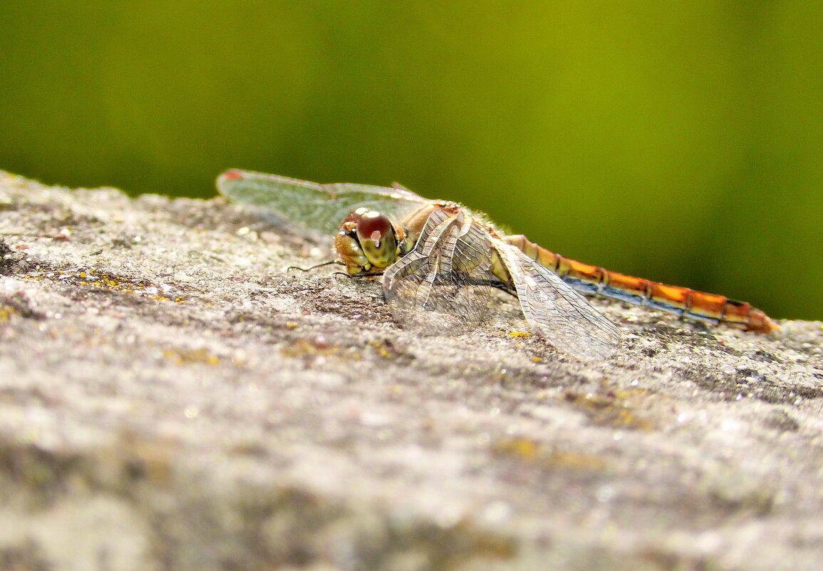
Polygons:
<instances>
[{"instance_id":1,"label":"smooth blurred green background above the stone and dragonfly","mask_svg":"<svg viewBox=\"0 0 823 571\"><path fill-rule=\"evenodd\" d=\"M823 318L820 2L2 2L0 169L391 183Z\"/></svg>"}]
</instances>

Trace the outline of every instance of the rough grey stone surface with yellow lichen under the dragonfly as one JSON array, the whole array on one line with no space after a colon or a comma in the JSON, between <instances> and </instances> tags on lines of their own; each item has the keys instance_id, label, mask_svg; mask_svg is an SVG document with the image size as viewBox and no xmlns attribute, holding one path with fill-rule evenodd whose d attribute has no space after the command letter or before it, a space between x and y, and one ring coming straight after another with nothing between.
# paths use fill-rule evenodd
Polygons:
<instances>
[{"instance_id":1,"label":"rough grey stone surface with yellow lichen under the dragonfly","mask_svg":"<svg viewBox=\"0 0 823 571\"><path fill-rule=\"evenodd\" d=\"M0 569L823 569L821 323L595 301L585 364L219 199L0 174L0 231Z\"/></svg>"}]
</instances>

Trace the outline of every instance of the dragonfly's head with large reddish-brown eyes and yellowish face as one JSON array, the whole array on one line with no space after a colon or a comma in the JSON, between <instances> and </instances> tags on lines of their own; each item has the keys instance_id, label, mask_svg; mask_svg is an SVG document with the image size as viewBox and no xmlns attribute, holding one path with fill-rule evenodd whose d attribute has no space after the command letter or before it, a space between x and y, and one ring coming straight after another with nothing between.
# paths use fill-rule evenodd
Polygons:
<instances>
[{"instance_id":1,"label":"dragonfly's head with large reddish-brown eyes and yellowish face","mask_svg":"<svg viewBox=\"0 0 823 571\"><path fill-rule=\"evenodd\" d=\"M388 217L368 208L358 208L342 223L335 248L350 274L381 272L395 262L403 242L402 230Z\"/></svg>"}]
</instances>

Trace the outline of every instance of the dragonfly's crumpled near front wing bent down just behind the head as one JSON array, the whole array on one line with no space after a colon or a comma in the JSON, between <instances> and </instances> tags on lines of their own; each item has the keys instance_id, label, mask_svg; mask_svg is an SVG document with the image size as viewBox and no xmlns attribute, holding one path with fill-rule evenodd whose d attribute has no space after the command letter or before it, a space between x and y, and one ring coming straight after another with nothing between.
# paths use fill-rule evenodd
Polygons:
<instances>
[{"instance_id":1,"label":"dragonfly's crumpled near front wing bent down just behind the head","mask_svg":"<svg viewBox=\"0 0 823 571\"><path fill-rule=\"evenodd\" d=\"M489 235L458 208L426 220L412 251L383 276L387 303L400 323L427 332L454 332L486 317L491 284Z\"/></svg>"}]
</instances>

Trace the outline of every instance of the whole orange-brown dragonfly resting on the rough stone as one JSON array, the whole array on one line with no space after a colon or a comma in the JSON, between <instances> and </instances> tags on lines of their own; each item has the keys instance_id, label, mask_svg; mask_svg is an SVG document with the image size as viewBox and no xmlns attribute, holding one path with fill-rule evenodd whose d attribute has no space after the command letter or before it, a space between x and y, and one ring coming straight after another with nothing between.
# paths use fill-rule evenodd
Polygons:
<instances>
[{"instance_id":1,"label":"whole orange-brown dragonfly resting on the rough stone","mask_svg":"<svg viewBox=\"0 0 823 571\"><path fill-rule=\"evenodd\" d=\"M349 276L380 277L402 324L452 331L480 323L493 292L502 290L517 297L533 330L582 360L606 360L621 341L620 329L584 295L752 332L779 328L746 302L565 258L522 234L505 234L457 202L430 200L398 183L319 184L230 169L216 184L224 196L301 234L334 234L337 262Z\"/></svg>"}]
</instances>

